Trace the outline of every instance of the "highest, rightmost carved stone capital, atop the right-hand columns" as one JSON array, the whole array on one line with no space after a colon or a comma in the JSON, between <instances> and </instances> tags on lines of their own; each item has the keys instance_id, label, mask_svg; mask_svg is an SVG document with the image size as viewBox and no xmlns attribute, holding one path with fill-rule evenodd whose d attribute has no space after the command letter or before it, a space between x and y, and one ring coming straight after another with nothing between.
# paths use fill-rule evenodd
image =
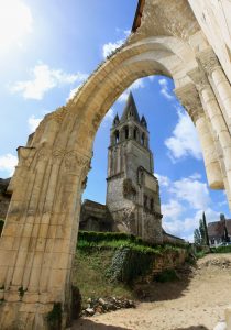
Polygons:
<instances>
[{"instance_id":1,"label":"highest, rightmost carved stone capital, atop the right-hand columns","mask_svg":"<svg viewBox=\"0 0 231 330\"><path fill-rule=\"evenodd\" d=\"M221 67L220 62L211 47L198 53L196 57L208 76L210 76L216 68Z\"/></svg>"}]
</instances>

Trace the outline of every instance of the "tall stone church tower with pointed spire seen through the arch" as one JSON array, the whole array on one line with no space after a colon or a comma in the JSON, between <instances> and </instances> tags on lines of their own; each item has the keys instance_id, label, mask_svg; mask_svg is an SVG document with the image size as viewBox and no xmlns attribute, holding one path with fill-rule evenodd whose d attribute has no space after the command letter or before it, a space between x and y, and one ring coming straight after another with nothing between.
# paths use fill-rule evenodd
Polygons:
<instances>
[{"instance_id":1,"label":"tall stone church tower with pointed spire seen through the arch","mask_svg":"<svg viewBox=\"0 0 231 330\"><path fill-rule=\"evenodd\" d=\"M162 242L160 187L153 175L150 133L130 92L121 119L117 114L108 151L107 207L114 231Z\"/></svg>"}]
</instances>

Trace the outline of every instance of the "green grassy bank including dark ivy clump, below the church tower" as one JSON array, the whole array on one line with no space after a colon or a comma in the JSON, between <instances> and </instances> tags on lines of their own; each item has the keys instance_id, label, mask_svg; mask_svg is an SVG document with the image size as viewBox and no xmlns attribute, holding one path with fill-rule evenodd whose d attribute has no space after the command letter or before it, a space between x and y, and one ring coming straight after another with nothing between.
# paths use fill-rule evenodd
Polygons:
<instances>
[{"instance_id":1,"label":"green grassy bank including dark ivy clump, below the church tower","mask_svg":"<svg viewBox=\"0 0 231 330\"><path fill-rule=\"evenodd\" d=\"M148 273L155 257L168 252L177 255L182 248L188 245L148 244L125 233L80 231L74 285L80 289L84 306L88 298L133 298L132 284Z\"/></svg>"}]
</instances>

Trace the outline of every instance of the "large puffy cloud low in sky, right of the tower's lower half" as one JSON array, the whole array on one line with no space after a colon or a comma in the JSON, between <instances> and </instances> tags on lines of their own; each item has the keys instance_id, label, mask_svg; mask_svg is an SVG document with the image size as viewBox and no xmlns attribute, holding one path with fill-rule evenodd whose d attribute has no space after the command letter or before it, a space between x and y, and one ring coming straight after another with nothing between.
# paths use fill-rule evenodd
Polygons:
<instances>
[{"instance_id":1,"label":"large puffy cloud low in sky, right of the tower's lower half","mask_svg":"<svg viewBox=\"0 0 231 330\"><path fill-rule=\"evenodd\" d=\"M158 178L161 195L165 193L162 213L166 232L193 241L194 230L198 228L204 211L208 222L219 219L219 212L211 208L209 189L200 174L194 173L178 180L161 174L155 176Z\"/></svg>"}]
</instances>

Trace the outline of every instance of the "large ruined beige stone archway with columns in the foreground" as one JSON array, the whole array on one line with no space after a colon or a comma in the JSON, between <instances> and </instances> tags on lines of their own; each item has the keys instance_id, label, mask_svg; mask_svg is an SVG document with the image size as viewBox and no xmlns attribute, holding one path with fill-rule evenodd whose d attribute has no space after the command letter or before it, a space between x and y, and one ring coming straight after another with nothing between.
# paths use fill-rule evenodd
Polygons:
<instances>
[{"instance_id":1,"label":"large ruined beige stone archway with columns in the foreground","mask_svg":"<svg viewBox=\"0 0 231 330\"><path fill-rule=\"evenodd\" d=\"M229 81L189 4L158 2L146 0L138 31L18 150L0 240L1 329L46 329L54 302L62 306L65 326L92 142L111 105L135 79L155 74L174 79L176 95L198 130L209 184L226 187L231 201ZM176 13L173 23L170 10Z\"/></svg>"}]
</instances>

